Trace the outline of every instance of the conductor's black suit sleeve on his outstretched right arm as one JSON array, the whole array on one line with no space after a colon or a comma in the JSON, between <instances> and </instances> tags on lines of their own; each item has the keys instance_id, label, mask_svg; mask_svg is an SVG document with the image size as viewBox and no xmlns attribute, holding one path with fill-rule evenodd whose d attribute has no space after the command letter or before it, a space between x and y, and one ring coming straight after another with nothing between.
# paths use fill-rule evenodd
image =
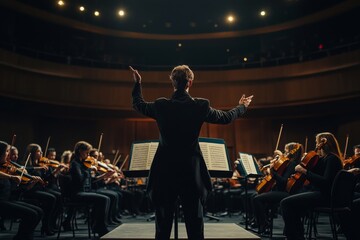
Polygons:
<instances>
[{"instance_id":1,"label":"conductor's black suit sleeve on his outstretched right arm","mask_svg":"<svg viewBox=\"0 0 360 240\"><path fill-rule=\"evenodd\" d=\"M207 101L207 104L210 103ZM205 118L205 122L208 123L218 123L218 124L228 124L239 118L246 111L244 105L238 105L237 107L230 109L228 111L217 110L212 107L208 107L208 113Z\"/></svg>"}]
</instances>

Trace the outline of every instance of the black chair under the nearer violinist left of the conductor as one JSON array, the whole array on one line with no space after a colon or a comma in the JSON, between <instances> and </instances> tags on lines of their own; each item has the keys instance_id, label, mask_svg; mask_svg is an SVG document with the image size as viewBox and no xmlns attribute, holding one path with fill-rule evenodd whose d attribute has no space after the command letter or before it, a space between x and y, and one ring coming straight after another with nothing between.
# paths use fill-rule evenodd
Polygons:
<instances>
[{"instance_id":1,"label":"black chair under the nearer violinist left of the conductor","mask_svg":"<svg viewBox=\"0 0 360 240\"><path fill-rule=\"evenodd\" d=\"M60 220L59 220L59 229L58 229L58 235L57 239L60 237L61 227L63 223L63 218L66 213L66 210L70 210L69 214L71 215L70 218L70 224L71 224L71 230L73 232L73 238L75 238L75 229L77 229L76 224L76 214L78 210L84 210L86 215L86 222L88 227L88 234L89 238L91 238L91 209L92 204L86 203L86 202L77 202L73 201L70 198L70 186L71 186L71 176L66 174L60 174L59 175L59 186L61 190L61 198L62 198L62 211L60 213Z\"/></svg>"}]
</instances>

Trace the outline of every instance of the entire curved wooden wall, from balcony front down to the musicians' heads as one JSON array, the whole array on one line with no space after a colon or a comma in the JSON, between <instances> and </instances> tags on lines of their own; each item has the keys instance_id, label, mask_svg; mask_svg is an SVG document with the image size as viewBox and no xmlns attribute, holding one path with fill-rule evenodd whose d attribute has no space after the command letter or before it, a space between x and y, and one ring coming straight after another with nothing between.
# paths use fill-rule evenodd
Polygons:
<instances>
[{"instance_id":1,"label":"entire curved wooden wall, from balcony front down to the musicians' heads","mask_svg":"<svg viewBox=\"0 0 360 240\"><path fill-rule=\"evenodd\" d=\"M230 125L204 124L200 136L224 139L232 160L239 151L272 155L281 124L280 150L306 137L313 149L322 131L333 132L341 150L349 134L351 149L360 143L359 62L360 51L354 51L279 67L196 71L191 95L210 99L215 108L233 107L242 93L255 95L243 118ZM142 74L146 100L171 96L168 71ZM0 101L0 140L10 142L17 134L21 157L27 144L44 148L49 136L60 155L79 140L97 147L104 133L105 156L112 159L119 149L123 160L133 141L159 137L155 121L132 110L129 71L60 65L0 50L0 80L0 97L7 100ZM120 111L125 115L116 114Z\"/></svg>"}]
</instances>

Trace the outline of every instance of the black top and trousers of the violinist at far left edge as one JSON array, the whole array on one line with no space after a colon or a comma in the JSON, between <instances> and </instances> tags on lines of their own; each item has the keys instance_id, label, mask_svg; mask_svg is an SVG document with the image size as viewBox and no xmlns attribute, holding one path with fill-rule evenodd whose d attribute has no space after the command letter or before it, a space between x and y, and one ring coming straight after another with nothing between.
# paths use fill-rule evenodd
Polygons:
<instances>
[{"instance_id":1,"label":"black top and trousers of the violinist at far left edge","mask_svg":"<svg viewBox=\"0 0 360 240\"><path fill-rule=\"evenodd\" d=\"M18 232L14 239L31 240L43 211L41 208L23 201L11 201L11 183L9 179L0 179L0 217L20 219Z\"/></svg>"}]
</instances>

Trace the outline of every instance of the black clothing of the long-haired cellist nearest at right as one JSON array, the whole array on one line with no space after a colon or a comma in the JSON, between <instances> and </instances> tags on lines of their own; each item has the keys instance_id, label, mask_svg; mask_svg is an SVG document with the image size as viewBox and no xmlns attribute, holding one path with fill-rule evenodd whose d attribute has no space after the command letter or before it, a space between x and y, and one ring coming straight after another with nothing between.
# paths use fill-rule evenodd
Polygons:
<instances>
[{"instance_id":1,"label":"black clothing of the long-haired cellist nearest at right","mask_svg":"<svg viewBox=\"0 0 360 240\"><path fill-rule=\"evenodd\" d=\"M336 174L343 168L342 161L329 153L319 159L313 170L308 170L306 179L310 182L302 193L284 198L280 202L285 222L284 233L289 240L304 239L304 226L301 217L317 206L329 206L332 183Z\"/></svg>"}]
</instances>

